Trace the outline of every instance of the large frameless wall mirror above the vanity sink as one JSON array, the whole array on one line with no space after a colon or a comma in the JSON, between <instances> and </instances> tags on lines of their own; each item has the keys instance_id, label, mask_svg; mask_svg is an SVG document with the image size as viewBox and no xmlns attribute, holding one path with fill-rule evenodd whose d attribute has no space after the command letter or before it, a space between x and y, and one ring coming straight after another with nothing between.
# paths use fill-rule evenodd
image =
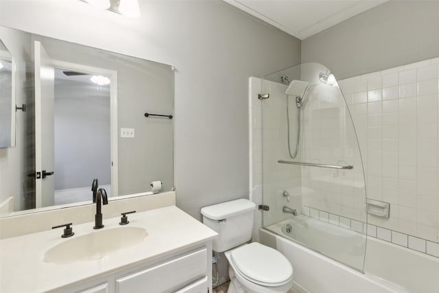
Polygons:
<instances>
[{"instance_id":1,"label":"large frameless wall mirror above the vanity sink","mask_svg":"<svg viewBox=\"0 0 439 293\"><path fill-rule=\"evenodd\" d=\"M8 27L0 38L27 104L21 145L0 153L0 215L91 204L94 178L111 198L173 189L174 119L154 116L174 115L173 67Z\"/></svg>"}]
</instances>

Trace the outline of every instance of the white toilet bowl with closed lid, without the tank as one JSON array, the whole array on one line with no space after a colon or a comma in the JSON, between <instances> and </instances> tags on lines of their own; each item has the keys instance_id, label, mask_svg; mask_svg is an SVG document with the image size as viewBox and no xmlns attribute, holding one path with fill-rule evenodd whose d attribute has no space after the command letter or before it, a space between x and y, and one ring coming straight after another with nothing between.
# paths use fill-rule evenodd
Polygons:
<instances>
[{"instance_id":1,"label":"white toilet bowl with closed lid, without the tank","mask_svg":"<svg viewBox=\"0 0 439 293\"><path fill-rule=\"evenodd\" d=\"M229 263L227 293L285 293L292 288L292 265L277 250L253 242L224 254Z\"/></svg>"}]
</instances>

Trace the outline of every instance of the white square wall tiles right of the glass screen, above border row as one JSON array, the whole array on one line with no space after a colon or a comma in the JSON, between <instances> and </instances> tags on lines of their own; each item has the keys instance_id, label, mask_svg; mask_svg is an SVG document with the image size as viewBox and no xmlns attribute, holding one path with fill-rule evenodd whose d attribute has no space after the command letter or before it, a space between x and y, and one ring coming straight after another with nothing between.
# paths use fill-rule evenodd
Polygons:
<instances>
[{"instance_id":1,"label":"white square wall tiles right of the glass screen, above border row","mask_svg":"<svg viewBox=\"0 0 439 293\"><path fill-rule=\"evenodd\" d=\"M434 58L339 82L360 141L367 196L390 202L389 219L368 215L368 222L432 243L439 237L438 64Z\"/></svg>"}]
</instances>

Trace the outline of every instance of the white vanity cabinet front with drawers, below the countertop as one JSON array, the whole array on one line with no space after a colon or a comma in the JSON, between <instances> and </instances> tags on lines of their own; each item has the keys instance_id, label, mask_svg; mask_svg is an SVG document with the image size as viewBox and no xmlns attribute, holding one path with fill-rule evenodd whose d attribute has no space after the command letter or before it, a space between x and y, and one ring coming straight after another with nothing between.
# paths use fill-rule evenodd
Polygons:
<instances>
[{"instance_id":1,"label":"white vanity cabinet front with drawers, below the countertop","mask_svg":"<svg viewBox=\"0 0 439 293\"><path fill-rule=\"evenodd\" d=\"M211 292L211 245L187 248L156 261L125 268L64 293Z\"/></svg>"}]
</instances>

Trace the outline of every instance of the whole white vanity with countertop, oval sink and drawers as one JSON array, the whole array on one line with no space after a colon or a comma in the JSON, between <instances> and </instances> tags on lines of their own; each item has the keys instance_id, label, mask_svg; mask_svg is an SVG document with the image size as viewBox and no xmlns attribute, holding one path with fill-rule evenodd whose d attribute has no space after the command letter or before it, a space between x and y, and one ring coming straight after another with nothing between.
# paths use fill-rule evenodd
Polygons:
<instances>
[{"instance_id":1,"label":"whole white vanity with countertop, oval sink and drawers","mask_svg":"<svg viewBox=\"0 0 439 293\"><path fill-rule=\"evenodd\" d=\"M105 219L98 231L93 222L78 224L67 239L54 230L1 239L0 292L212 291L215 231L175 206L134 213L128 226L119 222ZM133 231L140 242L133 244Z\"/></svg>"}]
</instances>

